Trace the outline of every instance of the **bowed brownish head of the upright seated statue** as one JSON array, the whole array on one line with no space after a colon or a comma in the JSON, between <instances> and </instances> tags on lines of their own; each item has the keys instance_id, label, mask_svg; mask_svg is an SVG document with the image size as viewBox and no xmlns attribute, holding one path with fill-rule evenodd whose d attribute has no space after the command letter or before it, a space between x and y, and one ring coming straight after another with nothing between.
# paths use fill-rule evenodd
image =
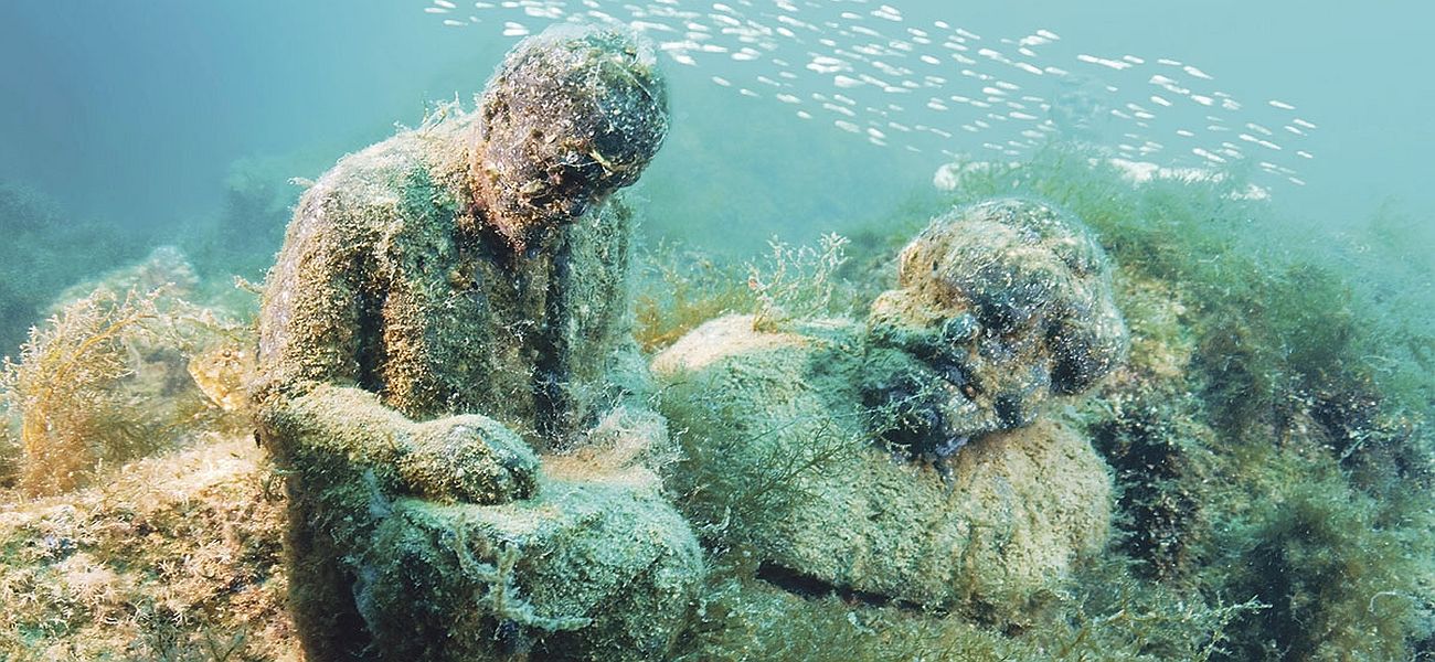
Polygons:
<instances>
[{"instance_id":1,"label":"bowed brownish head of the upright seated statue","mask_svg":"<svg viewBox=\"0 0 1435 662\"><path fill-rule=\"evenodd\" d=\"M474 172L491 221L521 245L636 182L666 135L651 47L560 24L519 43L484 89Z\"/></svg>"}]
</instances>

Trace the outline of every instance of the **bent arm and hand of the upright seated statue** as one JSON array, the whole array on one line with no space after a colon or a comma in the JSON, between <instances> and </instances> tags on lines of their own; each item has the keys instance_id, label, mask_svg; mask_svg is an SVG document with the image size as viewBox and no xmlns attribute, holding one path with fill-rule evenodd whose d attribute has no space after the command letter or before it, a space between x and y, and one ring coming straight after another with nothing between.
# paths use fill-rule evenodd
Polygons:
<instances>
[{"instance_id":1,"label":"bent arm and hand of the upright seated statue","mask_svg":"<svg viewBox=\"0 0 1435 662\"><path fill-rule=\"evenodd\" d=\"M316 186L300 202L260 320L261 440L306 481L376 481L387 494L502 503L532 493L537 456L482 416L416 423L364 385L379 288L362 228ZM350 483L354 484L354 483Z\"/></svg>"}]
</instances>

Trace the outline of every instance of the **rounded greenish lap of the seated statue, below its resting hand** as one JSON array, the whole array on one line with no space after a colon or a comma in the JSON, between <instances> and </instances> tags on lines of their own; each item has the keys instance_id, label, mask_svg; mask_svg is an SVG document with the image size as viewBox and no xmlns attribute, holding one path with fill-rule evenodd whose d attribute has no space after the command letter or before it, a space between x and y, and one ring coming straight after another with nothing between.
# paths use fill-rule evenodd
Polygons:
<instances>
[{"instance_id":1,"label":"rounded greenish lap of the seated statue, below its resting hand","mask_svg":"<svg viewBox=\"0 0 1435 662\"><path fill-rule=\"evenodd\" d=\"M356 587L383 659L660 659L705 572L641 470L548 474L499 506L390 507Z\"/></svg>"}]
</instances>

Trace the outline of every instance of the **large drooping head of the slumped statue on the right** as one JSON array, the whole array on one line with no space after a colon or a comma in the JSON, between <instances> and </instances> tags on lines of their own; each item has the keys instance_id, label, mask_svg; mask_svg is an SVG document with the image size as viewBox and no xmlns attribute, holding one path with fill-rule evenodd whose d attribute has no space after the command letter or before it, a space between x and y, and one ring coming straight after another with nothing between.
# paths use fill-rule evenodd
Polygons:
<instances>
[{"instance_id":1,"label":"large drooping head of the slumped statue on the right","mask_svg":"<svg viewBox=\"0 0 1435 662\"><path fill-rule=\"evenodd\" d=\"M1048 205L999 199L937 218L903 251L900 287L868 318L870 406L917 453L1030 424L1122 358L1106 255ZM891 437L890 436L890 437Z\"/></svg>"}]
</instances>

